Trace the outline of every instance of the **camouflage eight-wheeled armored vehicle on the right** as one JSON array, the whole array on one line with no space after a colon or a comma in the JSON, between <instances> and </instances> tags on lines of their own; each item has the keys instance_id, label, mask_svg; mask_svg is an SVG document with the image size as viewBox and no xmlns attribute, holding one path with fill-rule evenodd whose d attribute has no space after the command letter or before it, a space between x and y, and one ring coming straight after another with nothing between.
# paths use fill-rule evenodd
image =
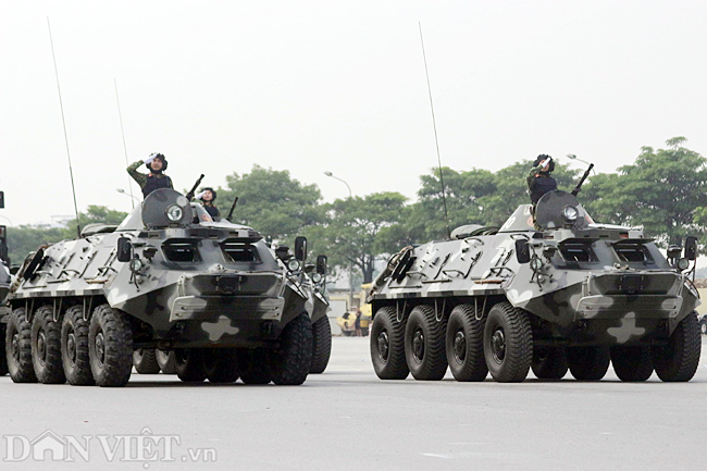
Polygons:
<instances>
[{"instance_id":1,"label":"camouflage eight-wheeled armored vehicle on the right","mask_svg":"<svg viewBox=\"0 0 707 471\"><path fill-rule=\"evenodd\" d=\"M375 280L371 357L384 380L690 381L699 362L696 239L668 258L641 230L597 224L546 194L501 227L407 247Z\"/></svg>"}]
</instances>

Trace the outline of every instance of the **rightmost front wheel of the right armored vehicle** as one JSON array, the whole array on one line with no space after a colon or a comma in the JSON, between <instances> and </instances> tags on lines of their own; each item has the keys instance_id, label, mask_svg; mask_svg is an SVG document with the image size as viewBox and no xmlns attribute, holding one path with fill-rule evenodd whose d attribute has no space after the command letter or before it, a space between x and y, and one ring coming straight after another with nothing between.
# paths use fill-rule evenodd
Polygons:
<instances>
[{"instance_id":1,"label":"rightmost front wheel of the right armored vehicle","mask_svg":"<svg viewBox=\"0 0 707 471\"><path fill-rule=\"evenodd\" d=\"M702 339L697 313L692 312L680 321L668 345L653 347L653 364L661 381L690 381L697 371Z\"/></svg>"}]
</instances>

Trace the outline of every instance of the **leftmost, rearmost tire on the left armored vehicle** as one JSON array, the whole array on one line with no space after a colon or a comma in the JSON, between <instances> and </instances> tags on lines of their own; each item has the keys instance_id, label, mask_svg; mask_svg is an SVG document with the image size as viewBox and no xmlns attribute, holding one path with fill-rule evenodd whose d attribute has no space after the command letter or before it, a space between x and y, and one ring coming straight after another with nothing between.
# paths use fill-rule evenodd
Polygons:
<instances>
[{"instance_id":1,"label":"leftmost, rearmost tire on the left armored vehicle","mask_svg":"<svg viewBox=\"0 0 707 471\"><path fill-rule=\"evenodd\" d=\"M15 383L36 383L37 375L32 362L32 325L25 318L24 308L10 314L5 331L5 359L8 373Z\"/></svg>"}]
</instances>

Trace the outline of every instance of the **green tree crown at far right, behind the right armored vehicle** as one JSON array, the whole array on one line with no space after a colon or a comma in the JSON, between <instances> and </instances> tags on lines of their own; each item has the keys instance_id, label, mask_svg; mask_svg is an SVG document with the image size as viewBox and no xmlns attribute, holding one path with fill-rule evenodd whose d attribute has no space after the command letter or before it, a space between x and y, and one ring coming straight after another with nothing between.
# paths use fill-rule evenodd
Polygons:
<instances>
[{"instance_id":1,"label":"green tree crown at far right, behind the right armored vehicle","mask_svg":"<svg viewBox=\"0 0 707 471\"><path fill-rule=\"evenodd\" d=\"M667 149L644 147L618 175L597 175L587 185L587 210L597 221L642 225L661 245L681 244L703 234L707 219L707 159L686 149L684 137L666 141Z\"/></svg>"}]
</instances>

